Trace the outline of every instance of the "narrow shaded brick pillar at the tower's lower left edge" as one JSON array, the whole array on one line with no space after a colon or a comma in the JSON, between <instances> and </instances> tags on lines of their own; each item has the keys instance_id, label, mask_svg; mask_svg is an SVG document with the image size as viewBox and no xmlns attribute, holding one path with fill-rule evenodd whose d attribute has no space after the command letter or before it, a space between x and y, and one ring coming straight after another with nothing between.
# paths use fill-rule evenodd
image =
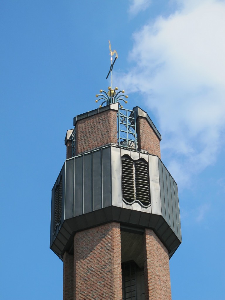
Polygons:
<instances>
[{"instance_id":1,"label":"narrow shaded brick pillar at the tower's lower left edge","mask_svg":"<svg viewBox=\"0 0 225 300\"><path fill-rule=\"evenodd\" d=\"M73 255L63 255L63 300L73 300Z\"/></svg>"}]
</instances>

